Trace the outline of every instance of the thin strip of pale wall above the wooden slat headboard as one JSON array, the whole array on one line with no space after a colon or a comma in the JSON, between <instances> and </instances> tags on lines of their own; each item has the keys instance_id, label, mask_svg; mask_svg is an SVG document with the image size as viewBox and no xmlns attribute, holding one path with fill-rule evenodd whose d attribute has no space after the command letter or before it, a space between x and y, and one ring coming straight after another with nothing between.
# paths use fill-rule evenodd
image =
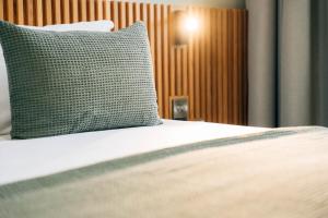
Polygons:
<instances>
[{"instance_id":1,"label":"thin strip of pale wall above the wooden slat headboard","mask_svg":"<svg viewBox=\"0 0 328 218\"><path fill-rule=\"evenodd\" d=\"M155 2L155 3L171 3L174 5L200 4L200 5L209 5L209 7L218 7L218 8L245 8L245 0L145 0L145 1Z\"/></svg>"}]
</instances>

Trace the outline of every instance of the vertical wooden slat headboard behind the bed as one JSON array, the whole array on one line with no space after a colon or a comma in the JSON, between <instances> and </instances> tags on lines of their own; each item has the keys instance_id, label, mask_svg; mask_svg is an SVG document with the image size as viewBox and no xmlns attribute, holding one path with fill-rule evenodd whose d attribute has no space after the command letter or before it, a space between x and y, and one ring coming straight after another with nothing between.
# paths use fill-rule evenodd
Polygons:
<instances>
[{"instance_id":1,"label":"vertical wooden slat headboard behind the bed","mask_svg":"<svg viewBox=\"0 0 328 218\"><path fill-rule=\"evenodd\" d=\"M112 20L119 29L141 20L149 31L161 117L169 97L188 96L189 119L247 123L246 10L188 7L201 27L187 46L172 40L173 7L108 0L0 0L0 20L25 25Z\"/></svg>"}]
</instances>

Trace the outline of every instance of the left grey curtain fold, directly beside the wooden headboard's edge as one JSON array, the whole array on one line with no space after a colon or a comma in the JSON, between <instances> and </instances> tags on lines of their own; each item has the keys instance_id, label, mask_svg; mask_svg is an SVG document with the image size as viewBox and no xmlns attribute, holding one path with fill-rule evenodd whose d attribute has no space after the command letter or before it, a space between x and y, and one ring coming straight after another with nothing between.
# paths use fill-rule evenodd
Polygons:
<instances>
[{"instance_id":1,"label":"left grey curtain fold, directly beside the wooden headboard's edge","mask_svg":"<svg viewBox=\"0 0 328 218\"><path fill-rule=\"evenodd\" d=\"M248 124L274 126L277 113L277 3L247 0Z\"/></svg>"}]
</instances>

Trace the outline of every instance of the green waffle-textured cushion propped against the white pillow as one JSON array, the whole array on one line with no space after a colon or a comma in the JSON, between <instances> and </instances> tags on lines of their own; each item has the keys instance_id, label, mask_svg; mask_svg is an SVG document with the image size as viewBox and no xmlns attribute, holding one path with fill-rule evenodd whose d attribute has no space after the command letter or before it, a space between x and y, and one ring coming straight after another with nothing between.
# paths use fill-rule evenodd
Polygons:
<instances>
[{"instance_id":1,"label":"green waffle-textured cushion propped against the white pillow","mask_svg":"<svg viewBox=\"0 0 328 218\"><path fill-rule=\"evenodd\" d=\"M0 22L13 138L162 123L145 26L43 32Z\"/></svg>"}]
</instances>

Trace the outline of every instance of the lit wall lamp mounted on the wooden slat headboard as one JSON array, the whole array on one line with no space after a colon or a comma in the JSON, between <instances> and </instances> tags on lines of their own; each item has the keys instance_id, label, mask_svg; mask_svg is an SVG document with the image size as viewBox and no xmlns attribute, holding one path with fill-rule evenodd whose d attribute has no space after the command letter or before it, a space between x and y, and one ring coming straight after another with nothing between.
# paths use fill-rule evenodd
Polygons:
<instances>
[{"instance_id":1,"label":"lit wall lamp mounted on the wooden slat headboard","mask_svg":"<svg viewBox=\"0 0 328 218\"><path fill-rule=\"evenodd\" d=\"M189 36L199 31L199 20L185 10L174 11L174 43L176 46L187 45Z\"/></svg>"}]
</instances>

